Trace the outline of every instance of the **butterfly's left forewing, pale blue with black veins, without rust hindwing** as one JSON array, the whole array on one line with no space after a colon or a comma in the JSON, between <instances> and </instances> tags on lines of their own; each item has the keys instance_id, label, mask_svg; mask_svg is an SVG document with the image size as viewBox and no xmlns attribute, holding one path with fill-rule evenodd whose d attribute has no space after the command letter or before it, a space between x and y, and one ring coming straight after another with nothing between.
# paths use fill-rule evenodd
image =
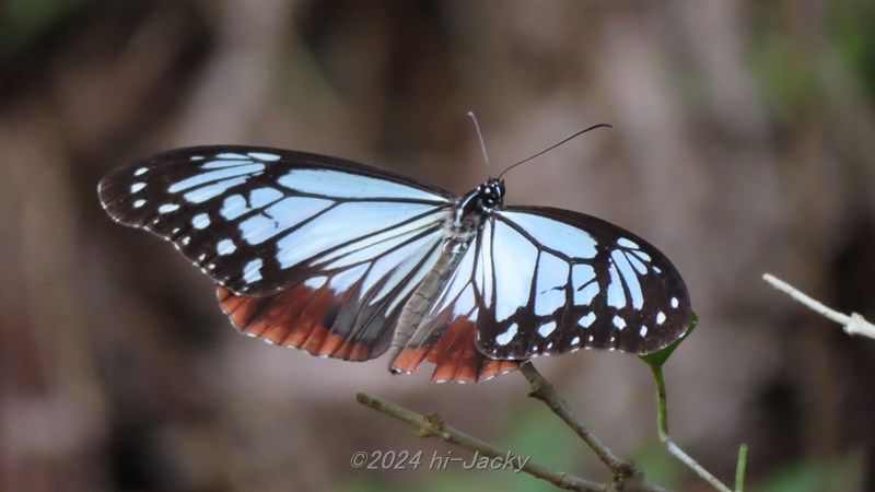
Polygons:
<instances>
[{"instance_id":1,"label":"butterfly's left forewing, pale blue with black veins, without rust hindwing","mask_svg":"<svg viewBox=\"0 0 875 492\"><path fill-rule=\"evenodd\" d=\"M101 180L117 222L170 242L230 291L272 295L328 259L439 226L453 196L377 167L252 147L179 149ZM370 248L370 249L368 249Z\"/></svg>"}]
</instances>

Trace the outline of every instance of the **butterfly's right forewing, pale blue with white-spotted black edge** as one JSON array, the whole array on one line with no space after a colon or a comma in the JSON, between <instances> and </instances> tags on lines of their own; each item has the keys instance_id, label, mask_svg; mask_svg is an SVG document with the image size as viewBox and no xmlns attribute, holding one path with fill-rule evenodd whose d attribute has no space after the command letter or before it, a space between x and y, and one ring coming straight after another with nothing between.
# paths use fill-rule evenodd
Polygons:
<instances>
[{"instance_id":1,"label":"butterfly's right forewing, pale blue with white-spotted black edge","mask_svg":"<svg viewBox=\"0 0 875 492\"><path fill-rule=\"evenodd\" d=\"M687 328L684 280L655 247L567 210L494 211L478 241L477 347L494 359L656 351Z\"/></svg>"}]
</instances>

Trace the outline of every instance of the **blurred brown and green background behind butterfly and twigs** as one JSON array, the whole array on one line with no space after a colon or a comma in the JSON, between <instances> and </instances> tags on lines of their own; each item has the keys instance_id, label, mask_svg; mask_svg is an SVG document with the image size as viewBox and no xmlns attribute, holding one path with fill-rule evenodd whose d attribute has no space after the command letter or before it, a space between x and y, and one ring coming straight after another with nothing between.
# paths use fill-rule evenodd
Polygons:
<instances>
[{"instance_id":1,"label":"blurred brown and green background behind butterfly and twigs","mask_svg":"<svg viewBox=\"0 0 875 492\"><path fill-rule=\"evenodd\" d=\"M511 472L353 469L358 450L469 457L368 391L545 465L608 473L517 374L434 385L385 361L241 337L209 279L113 224L100 177L174 147L376 163L456 192L585 211L684 273L700 327L666 367L675 440L759 491L875 490L875 341L770 271L875 318L875 5L868 1L109 1L0 5L0 489L551 490ZM655 432L633 356L539 359L648 477L710 490Z\"/></svg>"}]
</instances>

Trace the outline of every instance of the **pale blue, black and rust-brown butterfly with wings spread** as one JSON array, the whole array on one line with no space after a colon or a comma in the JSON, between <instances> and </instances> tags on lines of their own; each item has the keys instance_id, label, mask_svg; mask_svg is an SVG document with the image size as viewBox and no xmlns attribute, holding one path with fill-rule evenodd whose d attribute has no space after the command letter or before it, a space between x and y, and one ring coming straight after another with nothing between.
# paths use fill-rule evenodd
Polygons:
<instances>
[{"instance_id":1,"label":"pale blue, black and rust-brown butterfly with wings spread","mask_svg":"<svg viewBox=\"0 0 875 492\"><path fill-rule=\"evenodd\" d=\"M479 382L579 349L644 354L686 330L687 288L655 247L609 222L504 207L298 151L213 145L105 176L109 216L171 243L218 286L232 324L314 355L436 382Z\"/></svg>"}]
</instances>

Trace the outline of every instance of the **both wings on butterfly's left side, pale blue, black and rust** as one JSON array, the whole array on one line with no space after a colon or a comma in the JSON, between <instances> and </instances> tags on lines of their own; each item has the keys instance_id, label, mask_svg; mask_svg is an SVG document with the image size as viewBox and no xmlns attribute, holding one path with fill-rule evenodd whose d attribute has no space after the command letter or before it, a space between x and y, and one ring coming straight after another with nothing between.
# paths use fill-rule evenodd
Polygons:
<instances>
[{"instance_id":1,"label":"both wings on butterfly's left side, pale blue, black and rust","mask_svg":"<svg viewBox=\"0 0 875 492\"><path fill-rule=\"evenodd\" d=\"M114 220L172 242L212 277L242 331L348 360L387 349L453 204L365 164L224 145L118 169L98 195Z\"/></svg>"}]
</instances>

